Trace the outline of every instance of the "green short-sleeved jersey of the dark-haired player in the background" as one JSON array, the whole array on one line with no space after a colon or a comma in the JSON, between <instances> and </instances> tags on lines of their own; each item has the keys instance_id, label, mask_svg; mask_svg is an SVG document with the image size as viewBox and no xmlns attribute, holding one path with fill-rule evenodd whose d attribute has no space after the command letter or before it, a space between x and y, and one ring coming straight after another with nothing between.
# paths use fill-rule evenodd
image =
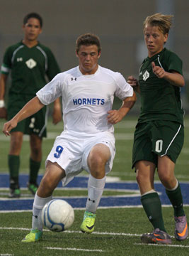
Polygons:
<instances>
[{"instance_id":1,"label":"green short-sleeved jersey of the dark-haired player in the background","mask_svg":"<svg viewBox=\"0 0 189 256\"><path fill-rule=\"evenodd\" d=\"M47 81L60 73L59 66L52 51L38 43L28 48L22 42L6 49L1 73L8 75L11 71L11 87L9 93L35 95L45 86Z\"/></svg>"}]
</instances>

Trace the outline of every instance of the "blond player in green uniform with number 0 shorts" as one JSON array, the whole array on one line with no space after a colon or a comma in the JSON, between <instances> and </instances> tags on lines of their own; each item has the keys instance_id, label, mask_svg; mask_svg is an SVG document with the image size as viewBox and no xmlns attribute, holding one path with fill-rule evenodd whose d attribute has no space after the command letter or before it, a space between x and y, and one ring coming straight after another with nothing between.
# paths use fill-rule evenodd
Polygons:
<instances>
[{"instance_id":1,"label":"blond player in green uniform with number 0 shorts","mask_svg":"<svg viewBox=\"0 0 189 256\"><path fill-rule=\"evenodd\" d=\"M176 159L183 146L183 110L180 88L185 85L182 61L164 48L173 16L154 14L144 21L144 41L148 57L139 70L139 81L128 82L141 95L141 113L134 132L132 164L137 173L142 206L154 227L142 235L142 242L171 244L154 189L154 172L166 188L174 209L175 238L185 240L188 225L183 210L181 187L174 174Z\"/></svg>"}]
</instances>

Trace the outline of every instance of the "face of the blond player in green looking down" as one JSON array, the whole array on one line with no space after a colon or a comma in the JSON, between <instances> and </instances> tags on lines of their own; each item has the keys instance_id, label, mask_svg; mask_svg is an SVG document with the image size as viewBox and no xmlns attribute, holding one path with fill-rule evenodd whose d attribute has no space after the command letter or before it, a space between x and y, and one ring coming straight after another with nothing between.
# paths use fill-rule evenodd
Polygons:
<instances>
[{"instance_id":1,"label":"face of the blond player in green looking down","mask_svg":"<svg viewBox=\"0 0 189 256\"><path fill-rule=\"evenodd\" d=\"M148 49L149 57L160 53L164 49L168 34L164 35L157 26L147 26L144 28L144 41Z\"/></svg>"}]
</instances>

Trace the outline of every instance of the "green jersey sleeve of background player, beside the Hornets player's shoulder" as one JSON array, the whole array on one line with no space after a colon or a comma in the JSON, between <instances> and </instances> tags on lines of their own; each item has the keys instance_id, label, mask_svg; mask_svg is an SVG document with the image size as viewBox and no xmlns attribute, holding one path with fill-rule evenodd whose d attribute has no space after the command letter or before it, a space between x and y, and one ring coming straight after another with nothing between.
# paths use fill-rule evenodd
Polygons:
<instances>
[{"instance_id":1,"label":"green jersey sleeve of background player, beside the Hornets player's shoulder","mask_svg":"<svg viewBox=\"0 0 189 256\"><path fill-rule=\"evenodd\" d=\"M55 75L60 73L59 65L57 63L57 60L55 59L55 55L52 53L52 51L47 48L47 78L49 80L52 80L52 78L55 78Z\"/></svg>"}]
</instances>

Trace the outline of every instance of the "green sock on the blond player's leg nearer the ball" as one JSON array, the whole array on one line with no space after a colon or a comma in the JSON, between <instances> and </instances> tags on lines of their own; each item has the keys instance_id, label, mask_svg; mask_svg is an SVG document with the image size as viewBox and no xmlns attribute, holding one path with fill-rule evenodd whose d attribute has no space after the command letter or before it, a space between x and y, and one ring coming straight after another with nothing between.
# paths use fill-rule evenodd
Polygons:
<instances>
[{"instance_id":1,"label":"green sock on the blond player's leg nearer the ball","mask_svg":"<svg viewBox=\"0 0 189 256\"><path fill-rule=\"evenodd\" d=\"M166 232L158 193L149 193L142 196L141 203L154 229L159 228Z\"/></svg>"}]
</instances>

